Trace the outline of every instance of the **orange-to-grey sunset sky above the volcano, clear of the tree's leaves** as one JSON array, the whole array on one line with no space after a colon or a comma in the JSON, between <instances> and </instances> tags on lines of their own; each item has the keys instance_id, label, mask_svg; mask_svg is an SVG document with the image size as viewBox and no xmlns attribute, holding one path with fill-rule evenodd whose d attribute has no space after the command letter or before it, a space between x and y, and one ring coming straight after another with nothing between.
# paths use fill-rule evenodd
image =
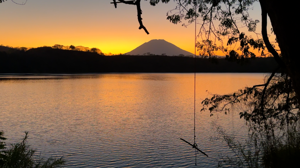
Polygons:
<instances>
[{"instance_id":1,"label":"orange-to-grey sunset sky above the volcano, clear of the tree's leaves","mask_svg":"<svg viewBox=\"0 0 300 168\"><path fill-rule=\"evenodd\" d=\"M15 0L22 3L23 0ZM26 0L24 0L25 2ZM112 0L28 0L17 5L8 0L0 4L0 44L13 47L82 45L99 48L104 53L126 53L152 39L164 39L194 53L194 26L184 28L167 20L174 2L153 7L142 1L143 24L150 32L139 30L134 5L118 4ZM250 11L252 19L261 20L256 3ZM268 24L268 31L270 30ZM260 33L260 25L257 30ZM271 32L268 32L271 33Z\"/></svg>"}]
</instances>

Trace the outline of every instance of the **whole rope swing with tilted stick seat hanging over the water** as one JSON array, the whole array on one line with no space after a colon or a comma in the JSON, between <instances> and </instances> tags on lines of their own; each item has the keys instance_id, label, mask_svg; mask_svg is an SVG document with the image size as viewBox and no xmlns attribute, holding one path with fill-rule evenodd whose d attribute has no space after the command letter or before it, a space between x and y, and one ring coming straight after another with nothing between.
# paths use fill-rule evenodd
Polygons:
<instances>
[{"instance_id":1,"label":"whole rope swing with tilted stick seat hanging over the water","mask_svg":"<svg viewBox=\"0 0 300 168\"><path fill-rule=\"evenodd\" d=\"M196 0L195 0L196 1ZM180 138L193 148L195 148L195 165L197 166L197 154L198 151L204 154L205 156L208 157L204 152L202 152L200 149L198 149L198 146L196 144L196 42L197 42L197 33L196 33L196 28L197 28L197 1L195 2L195 60L194 60L194 144L192 145L191 143L187 142L186 140Z\"/></svg>"}]
</instances>

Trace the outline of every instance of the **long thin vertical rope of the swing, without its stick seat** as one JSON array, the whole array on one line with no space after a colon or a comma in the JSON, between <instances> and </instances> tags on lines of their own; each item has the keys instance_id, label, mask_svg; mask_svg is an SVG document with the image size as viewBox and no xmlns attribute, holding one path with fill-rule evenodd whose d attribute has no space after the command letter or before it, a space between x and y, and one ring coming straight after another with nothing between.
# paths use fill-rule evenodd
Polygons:
<instances>
[{"instance_id":1,"label":"long thin vertical rope of the swing, without its stick seat","mask_svg":"<svg viewBox=\"0 0 300 168\"><path fill-rule=\"evenodd\" d=\"M194 65L194 145L196 145L196 26L197 26L197 0L195 1L195 65ZM195 148L195 165L197 166L197 149Z\"/></svg>"}]
</instances>

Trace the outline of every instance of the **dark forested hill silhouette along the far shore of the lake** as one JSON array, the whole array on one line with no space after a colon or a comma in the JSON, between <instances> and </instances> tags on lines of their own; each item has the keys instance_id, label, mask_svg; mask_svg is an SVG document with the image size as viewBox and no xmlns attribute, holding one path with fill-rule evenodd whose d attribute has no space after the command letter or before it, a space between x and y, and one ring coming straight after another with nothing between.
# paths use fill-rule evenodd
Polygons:
<instances>
[{"instance_id":1,"label":"dark forested hill silhouette along the far shore of the lake","mask_svg":"<svg viewBox=\"0 0 300 168\"><path fill-rule=\"evenodd\" d=\"M256 58L244 65L218 59L196 58L196 72L272 72L274 58ZM182 56L104 56L92 52L33 48L0 52L0 73L164 73L194 72L194 58Z\"/></svg>"}]
</instances>

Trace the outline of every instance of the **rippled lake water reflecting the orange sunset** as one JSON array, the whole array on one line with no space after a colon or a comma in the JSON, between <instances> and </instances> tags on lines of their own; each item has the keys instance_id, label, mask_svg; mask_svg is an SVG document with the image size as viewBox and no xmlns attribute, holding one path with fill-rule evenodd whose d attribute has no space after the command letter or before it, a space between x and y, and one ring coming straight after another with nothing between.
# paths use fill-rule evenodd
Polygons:
<instances>
[{"instance_id":1,"label":"rippled lake water reflecting the orange sunset","mask_svg":"<svg viewBox=\"0 0 300 168\"><path fill-rule=\"evenodd\" d=\"M29 131L44 157L64 156L66 167L192 167L194 74L87 74L0 77L0 130L7 143ZM264 74L196 75L198 167L231 155L213 123L246 135L238 111L200 112L211 93L261 84Z\"/></svg>"}]
</instances>

